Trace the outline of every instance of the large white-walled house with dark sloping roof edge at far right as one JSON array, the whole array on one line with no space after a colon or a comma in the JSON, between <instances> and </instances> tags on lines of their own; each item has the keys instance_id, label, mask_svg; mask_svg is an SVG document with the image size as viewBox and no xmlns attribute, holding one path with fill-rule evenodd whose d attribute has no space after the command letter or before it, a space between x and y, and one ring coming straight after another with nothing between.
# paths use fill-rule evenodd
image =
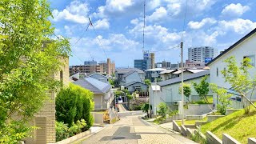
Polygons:
<instances>
[{"instance_id":1,"label":"large white-walled house with dark sloping roof edge at far right","mask_svg":"<svg viewBox=\"0 0 256 144\"><path fill-rule=\"evenodd\" d=\"M210 82L217 84L219 87L225 88L227 90L232 89L228 82L225 82L225 79L222 75L222 70L226 69L226 63L223 62L226 58L234 56L236 62L241 65L243 58L250 58L252 69L249 70L250 76L254 77L256 74L255 69L255 55L256 55L256 29L252 30L249 34L246 34L243 38L239 39L238 42L235 42L228 49L219 54L211 62L207 64L210 66ZM214 103L218 104L218 96L214 95ZM252 98L256 100L255 94Z\"/></svg>"}]
</instances>

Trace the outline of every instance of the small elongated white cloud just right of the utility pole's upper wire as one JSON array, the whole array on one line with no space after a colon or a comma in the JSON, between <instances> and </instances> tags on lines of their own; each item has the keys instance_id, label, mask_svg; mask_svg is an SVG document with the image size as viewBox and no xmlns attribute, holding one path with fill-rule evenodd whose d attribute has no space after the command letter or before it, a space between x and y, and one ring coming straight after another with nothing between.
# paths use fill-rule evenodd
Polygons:
<instances>
[{"instance_id":1,"label":"small elongated white cloud just right of the utility pole's upper wire","mask_svg":"<svg viewBox=\"0 0 256 144\"><path fill-rule=\"evenodd\" d=\"M190 21L188 23L188 26L190 27L190 29L201 29L203 26L209 26L216 22L217 21L214 18L203 18L201 22Z\"/></svg>"}]
</instances>

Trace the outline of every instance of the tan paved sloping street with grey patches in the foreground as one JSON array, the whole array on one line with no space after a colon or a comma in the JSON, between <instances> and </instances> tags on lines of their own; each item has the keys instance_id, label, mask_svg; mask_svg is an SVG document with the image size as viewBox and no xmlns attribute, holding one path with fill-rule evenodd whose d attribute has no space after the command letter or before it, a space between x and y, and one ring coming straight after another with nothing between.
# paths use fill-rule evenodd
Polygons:
<instances>
[{"instance_id":1,"label":"tan paved sloping street with grey patches in the foreground","mask_svg":"<svg viewBox=\"0 0 256 144\"><path fill-rule=\"evenodd\" d=\"M194 143L179 134L174 134L142 120L139 116L126 116L104 130L86 138L83 144L169 144Z\"/></svg>"}]
</instances>

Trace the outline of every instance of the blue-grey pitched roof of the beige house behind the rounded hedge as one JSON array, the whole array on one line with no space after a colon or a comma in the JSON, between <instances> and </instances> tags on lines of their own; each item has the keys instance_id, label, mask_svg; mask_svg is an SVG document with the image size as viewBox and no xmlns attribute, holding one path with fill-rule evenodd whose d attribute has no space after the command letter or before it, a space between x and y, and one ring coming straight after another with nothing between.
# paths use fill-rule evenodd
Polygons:
<instances>
[{"instance_id":1,"label":"blue-grey pitched roof of the beige house behind the rounded hedge","mask_svg":"<svg viewBox=\"0 0 256 144\"><path fill-rule=\"evenodd\" d=\"M79 79L73 83L94 92L94 94L105 94L111 88L110 84L98 81L98 79L90 77Z\"/></svg>"}]
</instances>

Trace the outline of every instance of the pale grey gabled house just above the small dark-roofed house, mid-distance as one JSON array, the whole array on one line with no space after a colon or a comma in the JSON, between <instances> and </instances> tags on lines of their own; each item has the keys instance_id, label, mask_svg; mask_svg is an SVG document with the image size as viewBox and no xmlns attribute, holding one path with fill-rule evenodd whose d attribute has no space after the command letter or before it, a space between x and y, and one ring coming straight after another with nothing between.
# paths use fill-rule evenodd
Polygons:
<instances>
[{"instance_id":1,"label":"pale grey gabled house just above the small dark-roofed house, mid-distance","mask_svg":"<svg viewBox=\"0 0 256 144\"><path fill-rule=\"evenodd\" d=\"M130 70L128 73L123 74L121 78L120 85L126 85L130 82L142 82L142 79L139 77L139 74L135 70Z\"/></svg>"}]
</instances>

